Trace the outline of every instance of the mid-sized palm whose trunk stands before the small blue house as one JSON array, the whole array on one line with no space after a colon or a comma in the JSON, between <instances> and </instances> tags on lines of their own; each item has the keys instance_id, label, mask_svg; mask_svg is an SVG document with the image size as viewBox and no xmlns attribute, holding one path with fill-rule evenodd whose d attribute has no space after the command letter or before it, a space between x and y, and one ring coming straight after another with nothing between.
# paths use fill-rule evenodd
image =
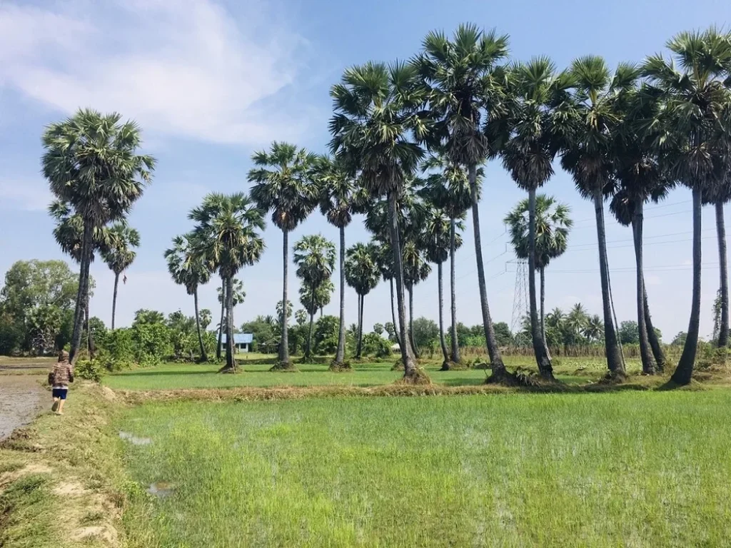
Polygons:
<instances>
[{"instance_id":1,"label":"mid-sized palm whose trunk stands before the small blue house","mask_svg":"<svg viewBox=\"0 0 731 548\"><path fill-rule=\"evenodd\" d=\"M197 223L194 242L211 270L218 270L226 283L226 365L221 371L234 373L236 360L233 340L233 278L246 265L262 256L265 243L260 235L265 227L262 210L246 194L208 194L202 205L191 210Z\"/></svg>"}]
</instances>

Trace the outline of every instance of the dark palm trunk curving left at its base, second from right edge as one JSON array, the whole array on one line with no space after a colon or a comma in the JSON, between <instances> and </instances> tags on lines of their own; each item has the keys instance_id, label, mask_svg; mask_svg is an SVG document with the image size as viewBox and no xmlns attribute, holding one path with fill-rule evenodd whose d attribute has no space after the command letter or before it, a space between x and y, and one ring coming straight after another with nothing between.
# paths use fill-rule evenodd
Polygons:
<instances>
[{"instance_id":1,"label":"dark palm trunk curving left at its base, second from right edge","mask_svg":"<svg viewBox=\"0 0 731 548\"><path fill-rule=\"evenodd\" d=\"M695 365L698 349L698 330L700 327L700 268L701 268L701 216L702 192L700 186L693 188L693 297L690 309L688 336L683 346L683 354L671 379L678 384L689 384Z\"/></svg>"}]
</instances>

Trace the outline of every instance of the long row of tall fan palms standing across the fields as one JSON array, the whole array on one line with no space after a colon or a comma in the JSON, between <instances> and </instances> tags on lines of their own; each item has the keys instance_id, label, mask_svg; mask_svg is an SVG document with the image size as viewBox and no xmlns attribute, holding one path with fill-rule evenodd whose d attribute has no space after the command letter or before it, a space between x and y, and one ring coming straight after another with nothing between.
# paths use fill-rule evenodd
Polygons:
<instances>
[{"instance_id":1,"label":"long row of tall fan palms standing across the fields","mask_svg":"<svg viewBox=\"0 0 731 548\"><path fill-rule=\"evenodd\" d=\"M558 248L545 252L540 212L547 206L539 203L537 191L553 176L556 160L572 176L580 195L594 204L608 374L622 378L626 369L611 304L607 200L618 221L632 227L643 371L654 373L666 361L654 337L644 283L643 205L662 199L675 186L692 191L693 283L689 328L673 381L690 381L697 353L704 204L713 205L716 213L721 265L717 343L727 346L723 205L731 189L727 129L731 121L731 34L716 28L683 32L667 42L667 53L648 56L639 64L621 63L614 70L599 56L576 58L567 69L558 69L545 56L512 61L509 46L507 35L466 24L451 37L441 31L429 33L408 61L371 61L346 69L341 81L330 89L333 115L328 123L328 154L273 142L252 156L249 194L211 194L191 211L194 227L179 240L180 246L175 240L168 258L183 256L176 265L221 278L227 370L235 369L232 280L241 268L260 259L265 214L271 213L273 224L282 232L281 302L287 303L289 233L316 208L339 232L335 255L340 267L340 318L333 368L349 367L344 356L345 229L356 213L365 215L373 239L352 250L350 259L355 262L356 256L363 260L368 256L372 266L366 270L375 277L371 279L385 278L390 283L404 380L425 378L417 368L418 348L410 328L413 314L407 321L407 300L412 308L414 286L431 272L430 264L436 265L439 319L444 323L442 267L447 259L452 343L447 349L442 328L440 345L444 368L458 364L454 256L461 245L463 221L471 213L491 380L507 380L510 373L504 367L488 306L478 207L490 191L482 168L496 160L527 193L521 208L527 210L527 222L512 237L514 243L523 240L516 252L529 263L531 343L542 377L553 378L553 368L548 318L539 313L537 302L536 272L543 288L550 253L560 251L561 229L569 228L565 222L563 228L558 227L552 244ZM43 172L50 189L69 214L77 216L81 228L75 244L81 267L72 337L75 354L87 302L88 264L101 239L99 232L125 218L149 182L155 162L137 153L139 129L132 122L120 123L119 115L81 110L69 120L49 126L43 141ZM319 284L332 272L336 258L332 246L325 246L317 237L309 238L295 246L295 258L300 257L298 275L303 291L308 292L306 310L312 319ZM171 267L174 278L176 271ZM359 318L370 291L371 282L366 278L365 272L351 278L359 295ZM193 279L192 285L180 279L188 289L205 283L203 278ZM293 367L287 335L287 321L281 321L275 369Z\"/></svg>"}]
</instances>

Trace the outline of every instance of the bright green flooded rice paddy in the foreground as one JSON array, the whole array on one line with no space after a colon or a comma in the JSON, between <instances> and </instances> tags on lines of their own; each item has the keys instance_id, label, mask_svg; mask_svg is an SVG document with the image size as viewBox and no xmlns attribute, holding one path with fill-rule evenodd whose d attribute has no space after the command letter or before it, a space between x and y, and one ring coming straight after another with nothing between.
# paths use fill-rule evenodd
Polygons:
<instances>
[{"instance_id":1,"label":"bright green flooded rice paddy in the foreground","mask_svg":"<svg viewBox=\"0 0 731 548\"><path fill-rule=\"evenodd\" d=\"M731 391L155 403L133 546L719 546ZM133 517L148 514L147 520Z\"/></svg>"}]
</instances>

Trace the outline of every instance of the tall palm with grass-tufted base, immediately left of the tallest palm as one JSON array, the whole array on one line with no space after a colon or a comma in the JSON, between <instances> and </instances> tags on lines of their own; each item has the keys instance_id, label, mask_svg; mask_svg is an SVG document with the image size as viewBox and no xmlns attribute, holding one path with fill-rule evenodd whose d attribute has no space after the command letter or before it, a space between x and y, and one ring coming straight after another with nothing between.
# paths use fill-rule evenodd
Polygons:
<instances>
[{"instance_id":1,"label":"tall palm with grass-tufted base, immediately left of the tallest palm","mask_svg":"<svg viewBox=\"0 0 731 548\"><path fill-rule=\"evenodd\" d=\"M425 137L428 125L418 111L425 99L423 87L418 85L413 66L370 62L347 69L330 95L335 107L330 119L331 150L358 167L363 187L371 197L387 197L404 381L420 381L425 373L417 370L414 351L406 338L397 209L401 191L423 157L417 144Z\"/></svg>"}]
</instances>

